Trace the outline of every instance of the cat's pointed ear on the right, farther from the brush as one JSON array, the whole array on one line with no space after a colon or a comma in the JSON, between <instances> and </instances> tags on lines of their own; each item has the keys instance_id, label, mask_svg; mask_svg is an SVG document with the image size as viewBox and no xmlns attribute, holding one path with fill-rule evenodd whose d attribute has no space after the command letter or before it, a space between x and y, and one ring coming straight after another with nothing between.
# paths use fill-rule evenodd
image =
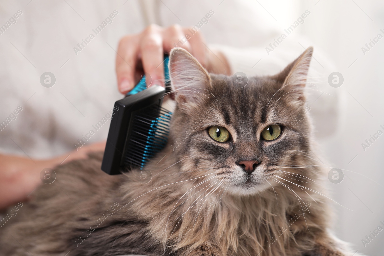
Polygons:
<instances>
[{"instance_id":1,"label":"cat's pointed ear on the right, farther from the brush","mask_svg":"<svg viewBox=\"0 0 384 256\"><path fill-rule=\"evenodd\" d=\"M287 91L287 96L295 97L304 101L304 92L308 69L313 54L313 47L308 47L297 59L289 64L283 71L275 76L275 79L282 83L281 89ZM290 95L288 95L288 93Z\"/></svg>"}]
</instances>

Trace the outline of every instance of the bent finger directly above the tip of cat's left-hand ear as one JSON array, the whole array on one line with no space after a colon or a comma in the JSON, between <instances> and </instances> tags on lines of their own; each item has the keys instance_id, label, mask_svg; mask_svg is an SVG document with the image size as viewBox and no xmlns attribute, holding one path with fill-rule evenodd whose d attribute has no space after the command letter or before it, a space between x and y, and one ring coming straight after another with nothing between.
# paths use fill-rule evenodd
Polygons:
<instances>
[{"instance_id":1,"label":"bent finger directly above the tip of cat's left-hand ear","mask_svg":"<svg viewBox=\"0 0 384 256\"><path fill-rule=\"evenodd\" d=\"M184 35L183 28L178 24L172 25L163 31L163 47L166 53L170 53L172 48L181 47L192 54L191 46Z\"/></svg>"}]
</instances>

